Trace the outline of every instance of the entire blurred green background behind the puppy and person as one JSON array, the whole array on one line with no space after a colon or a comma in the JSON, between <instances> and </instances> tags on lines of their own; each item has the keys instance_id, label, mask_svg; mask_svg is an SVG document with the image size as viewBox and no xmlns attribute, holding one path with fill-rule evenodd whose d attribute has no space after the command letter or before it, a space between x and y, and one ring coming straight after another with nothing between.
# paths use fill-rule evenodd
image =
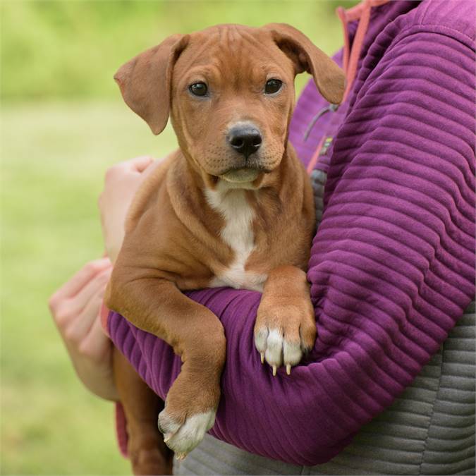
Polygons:
<instances>
[{"instance_id":1,"label":"entire blurred green background behind the puppy and person","mask_svg":"<svg viewBox=\"0 0 476 476\"><path fill-rule=\"evenodd\" d=\"M75 377L47 299L102 255L104 171L176 141L123 104L122 63L171 33L291 23L328 54L355 1L0 2L1 474L129 474L113 405ZM308 80L296 81L299 91Z\"/></svg>"}]
</instances>

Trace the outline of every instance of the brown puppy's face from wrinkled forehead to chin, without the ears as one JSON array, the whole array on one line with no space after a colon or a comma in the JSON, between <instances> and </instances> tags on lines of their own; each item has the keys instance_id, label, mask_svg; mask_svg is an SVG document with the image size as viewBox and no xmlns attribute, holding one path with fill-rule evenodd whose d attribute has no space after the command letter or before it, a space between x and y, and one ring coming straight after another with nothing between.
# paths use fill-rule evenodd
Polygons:
<instances>
[{"instance_id":1,"label":"brown puppy's face from wrinkled forehead to chin, without the ears","mask_svg":"<svg viewBox=\"0 0 476 476\"><path fill-rule=\"evenodd\" d=\"M211 176L256 178L279 165L295 66L269 32L226 25L190 35L171 78L181 147Z\"/></svg>"}]
</instances>

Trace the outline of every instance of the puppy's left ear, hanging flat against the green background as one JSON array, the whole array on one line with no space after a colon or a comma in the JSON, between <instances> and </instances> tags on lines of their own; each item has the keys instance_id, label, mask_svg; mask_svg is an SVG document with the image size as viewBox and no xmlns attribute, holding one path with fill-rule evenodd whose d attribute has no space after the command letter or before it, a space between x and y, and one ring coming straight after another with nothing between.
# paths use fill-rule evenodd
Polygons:
<instances>
[{"instance_id":1,"label":"puppy's left ear, hanging flat against the green background","mask_svg":"<svg viewBox=\"0 0 476 476\"><path fill-rule=\"evenodd\" d=\"M187 43L188 35L172 35L135 56L114 75L126 104L156 135L167 125L173 65Z\"/></svg>"}]
</instances>

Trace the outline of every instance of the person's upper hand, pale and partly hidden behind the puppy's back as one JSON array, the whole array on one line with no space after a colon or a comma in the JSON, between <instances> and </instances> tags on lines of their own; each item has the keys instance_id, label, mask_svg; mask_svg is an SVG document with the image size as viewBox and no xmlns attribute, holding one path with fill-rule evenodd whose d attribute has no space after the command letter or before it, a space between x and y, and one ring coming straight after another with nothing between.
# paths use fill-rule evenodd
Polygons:
<instances>
[{"instance_id":1,"label":"person's upper hand, pale and partly hidden behind the puppy's back","mask_svg":"<svg viewBox=\"0 0 476 476\"><path fill-rule=\"evenodd\" d=\"M161 161L159 159L157 162ZM124 222L130 202L140 183L154 169L154 159L136 157L112 166L104 177L104 190L99 195L102 235L106 254L116 260L124 238Z\"/></svg>"}]
</instances>

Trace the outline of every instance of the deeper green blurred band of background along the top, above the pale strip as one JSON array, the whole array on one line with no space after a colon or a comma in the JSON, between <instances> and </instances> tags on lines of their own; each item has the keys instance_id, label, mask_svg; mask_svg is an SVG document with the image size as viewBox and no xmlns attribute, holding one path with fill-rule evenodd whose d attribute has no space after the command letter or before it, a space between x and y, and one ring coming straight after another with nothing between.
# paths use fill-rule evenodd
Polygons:
<instances>
[{"instance_id":1,"label":"deeper green blurred band of background along the top, above the pale strip","mask_svg":"<svg viewBox=\"0 0 476 476\"><path fill-rule=\"evenodd\" d=\"M113 98L122 63L171 33L216 23L291 23L332 53L341 43L339 4L355 1L3 0L1 94Z\"/></svg>"}]
</instances>

